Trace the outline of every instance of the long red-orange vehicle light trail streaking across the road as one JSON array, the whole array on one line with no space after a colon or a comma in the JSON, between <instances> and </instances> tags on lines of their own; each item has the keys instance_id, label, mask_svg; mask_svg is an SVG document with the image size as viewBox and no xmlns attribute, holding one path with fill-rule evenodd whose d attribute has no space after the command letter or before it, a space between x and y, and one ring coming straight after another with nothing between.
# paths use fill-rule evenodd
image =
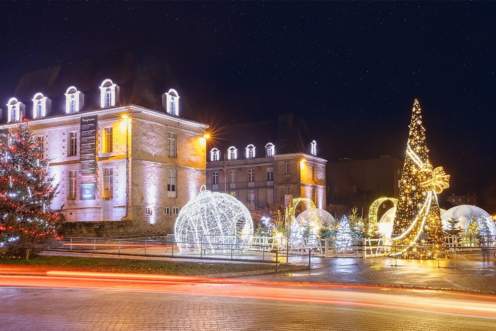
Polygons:
<instances>
[{"instance_id":1,"label":"long red-orange vehicle light trail streaking across the road","mask_svg":"<svg viewBox=\"0 0 496 331\"><path fill-rule=\"evenodd\" d=\"M0 285L183 293L496 318L496 297L482 294L459 292L437 294L428 290L412 291L393 287L389 288L392 292L384 294L378 293L379 288L382 287L367 285L246 281L174 275L136 277L135 274L71 271L48 271L47 274L50 275L0 275ZM55 276L56 274L59 276ZM62 274L64 276L60 276ZM344 290L346 288L352 288L353 291ZM426 293L431 297L426 297ZM440 297L446 296L446 293L455 299Z\"/></svg>"}]
</instances>

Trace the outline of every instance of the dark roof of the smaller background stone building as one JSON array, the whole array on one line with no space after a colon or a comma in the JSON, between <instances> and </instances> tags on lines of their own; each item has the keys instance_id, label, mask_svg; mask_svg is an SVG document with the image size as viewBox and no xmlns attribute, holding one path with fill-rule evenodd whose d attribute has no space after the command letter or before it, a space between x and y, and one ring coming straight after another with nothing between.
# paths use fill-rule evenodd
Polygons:
<instances>
[{"instance_id":1,"label":"dark roof of the smaller background stone building","mask_svg":"<svg viewBox=\"0 0 496 331\"><path fill-rule=\"evenodd\" d=\"M293 113L281 114L276 121L231 125L215 132L207 144L207 159L214 147L221 151L223 159L222 153L226 153L230 146L238 148L238 159L246 159L245 148L249 144L255 146L255 157L264 157L268 142L275 145L276 154L310 154L312 140L303 118L295 117Z\"/></svg>"}]
</instances>

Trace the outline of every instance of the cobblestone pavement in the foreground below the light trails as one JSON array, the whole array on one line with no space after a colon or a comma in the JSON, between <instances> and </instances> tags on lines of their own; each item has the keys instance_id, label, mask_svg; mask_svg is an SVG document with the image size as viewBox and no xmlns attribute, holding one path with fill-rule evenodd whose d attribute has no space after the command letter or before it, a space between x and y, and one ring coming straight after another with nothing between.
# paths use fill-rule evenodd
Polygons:
<instances>
[{"instance_id":1,"label":"cobblestone pavement in the foreground below the light trails","mask_svg":"<svg viewBox=\"0 0 496 331\"><path fill-rule=\"evenodd\" d=\"M0 330L495 330L496 319L191 294L0 287Z\"/></svg>"}]
</instances>

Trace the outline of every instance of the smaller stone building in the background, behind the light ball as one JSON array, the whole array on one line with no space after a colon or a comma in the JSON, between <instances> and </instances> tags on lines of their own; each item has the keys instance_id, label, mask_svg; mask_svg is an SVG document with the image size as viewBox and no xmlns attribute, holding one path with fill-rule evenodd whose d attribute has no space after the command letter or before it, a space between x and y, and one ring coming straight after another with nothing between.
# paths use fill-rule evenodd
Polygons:
<instances>
[{"instance_id":1,"label":"smaller stone building in the background, behind the light ball","mask_svg":"<svg viewBox=\"0 0 496 331\"><path fill-rule=\"evenodd\" d=\"M207 147L207 189L252 207L284 205L285 196L325 207L325 162L317 157L305 121L293 114L277 121L233 125L216 132Z\"/></svg>"}]
</instances>

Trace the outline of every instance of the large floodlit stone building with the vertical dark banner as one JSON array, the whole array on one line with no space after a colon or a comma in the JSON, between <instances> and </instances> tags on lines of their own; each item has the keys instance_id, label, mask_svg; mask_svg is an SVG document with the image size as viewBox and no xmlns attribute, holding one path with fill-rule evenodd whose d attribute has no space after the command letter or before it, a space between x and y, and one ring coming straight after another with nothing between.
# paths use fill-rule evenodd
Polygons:
<instances>
[{"instance_id":1,"label":"large floodlit stone building with the vertical dark banner","mask_svg":"<svg viewBox=\"0 0 496 331\"><path fill-rule=\"evenodd\" d=\"M4 128L27 117L43 140L68 236L173 233L205 184L208 126L183 117L181 87L153 53L117 50L26 73L6 105Z\"/></svg>"}]
</instances>

